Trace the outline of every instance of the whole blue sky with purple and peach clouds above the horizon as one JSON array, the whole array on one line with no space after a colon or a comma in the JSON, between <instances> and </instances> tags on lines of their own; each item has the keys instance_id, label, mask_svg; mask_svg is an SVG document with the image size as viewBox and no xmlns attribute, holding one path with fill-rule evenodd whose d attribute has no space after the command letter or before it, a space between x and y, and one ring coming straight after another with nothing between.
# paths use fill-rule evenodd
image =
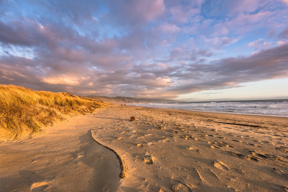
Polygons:
<instances>
[{"instance_id":1,"label":"whole blue sky with purple and peach clouds above the horizon","mask_svg":"<svg viewBox=\"0 0 288 192\"><path fill-rule=\"evenodd\" d=\"M0 0L0 84L186 101L288 98L288 0Z\"/></svg>"}]
</instances>

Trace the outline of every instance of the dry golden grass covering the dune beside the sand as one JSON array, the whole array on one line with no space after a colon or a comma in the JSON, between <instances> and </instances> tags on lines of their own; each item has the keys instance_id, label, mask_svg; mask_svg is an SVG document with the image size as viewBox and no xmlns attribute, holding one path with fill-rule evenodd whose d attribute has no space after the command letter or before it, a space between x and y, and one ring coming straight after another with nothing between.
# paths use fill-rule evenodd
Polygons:
<instances>
[{"instance_id":1,"label":"dry golden grass covering the dune beside the sand","mask_svg":"<svg viewBox=\"0 0 288 192\"><path fill-rule=\"evenodd\" d=\"M40 133L43 126L65 120L63 114L92 113L104 108L105 103L69 93L35 91L22 86L0 84L0 128L7 130L4 137L15 140L24 131L28 137Z\"/></svg>"}]
</instances>

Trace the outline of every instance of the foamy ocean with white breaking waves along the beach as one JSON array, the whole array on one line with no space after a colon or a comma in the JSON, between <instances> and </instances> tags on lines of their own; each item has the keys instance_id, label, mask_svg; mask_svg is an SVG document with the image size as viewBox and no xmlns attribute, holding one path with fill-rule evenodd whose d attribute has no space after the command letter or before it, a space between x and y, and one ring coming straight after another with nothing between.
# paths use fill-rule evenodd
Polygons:
<instances>
[{"instance_id":1,"label":"foamy ocean with white breaking waves along the beach","mask_svg":"<svg viewBox=\"0 0 288 192\"><path fill-rule=\"evenodd\" d=\"M190 111L288 117L288 99L183 103L133 103L132 105L153 108L183 109Z\"/></svg>"}]
</instances>

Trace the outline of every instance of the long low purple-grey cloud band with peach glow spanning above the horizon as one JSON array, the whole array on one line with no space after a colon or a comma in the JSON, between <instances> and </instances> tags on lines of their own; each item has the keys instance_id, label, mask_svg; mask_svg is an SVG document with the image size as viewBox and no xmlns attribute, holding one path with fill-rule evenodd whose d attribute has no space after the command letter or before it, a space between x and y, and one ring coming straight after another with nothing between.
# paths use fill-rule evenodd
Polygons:
<instances>
[{"instance_id":1,"label":"long low purple-grey cloud band with peach glow spanning above the horizon","mask_svg":"<svg viewBox=\"0 0 288 192\"><path fill-rule=\"evenodd\" d=\"M56 72L54 70L52 73L45 72L41 75L37 70L29 70L28 65L17 68L13 64L23 63L25 60L27 62L27 59L21 57L14 59L7 57L6 62L1 64L1 81L20 85L33 82L37 89L48 90L51 85L54 87L57 85L57 91L70 90L72 93L150 95L150 97L157 95L171 98L207 89L237 87L243 82L286 77L288 44L263 50L249 57L231 57L208 64L191 63L165 68L148 64L127 70L120 68L111 72L72 68L67 70L65 75L59 73L54 77L52 76ZM34 65L37 65L37 61L34 62ZM30 63L30 66L33 65ZM59 68L55 70L64 71ZM80 75L84 76L81 78Z\"/></svg>"}]
</instances>

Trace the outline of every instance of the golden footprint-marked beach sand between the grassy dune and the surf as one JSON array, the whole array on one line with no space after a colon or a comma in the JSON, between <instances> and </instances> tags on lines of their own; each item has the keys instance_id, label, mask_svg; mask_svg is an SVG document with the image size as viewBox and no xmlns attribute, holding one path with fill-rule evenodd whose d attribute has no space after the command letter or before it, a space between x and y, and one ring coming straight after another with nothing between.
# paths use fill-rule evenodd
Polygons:
<instances>
[{"instance_id":1,"label":"golden footprint-marked beach sand between the grassy dune and the surf","mask_svg":"<svg viewBox=\"0 0 288 192\"><path fill-rule=\"evenodd\" d=\"M287 125L284 117L112 105L2 142L0 191L287 191ZM119 159L91 133L124 160L124 179Z\"/></svg>"}]
</instances>

